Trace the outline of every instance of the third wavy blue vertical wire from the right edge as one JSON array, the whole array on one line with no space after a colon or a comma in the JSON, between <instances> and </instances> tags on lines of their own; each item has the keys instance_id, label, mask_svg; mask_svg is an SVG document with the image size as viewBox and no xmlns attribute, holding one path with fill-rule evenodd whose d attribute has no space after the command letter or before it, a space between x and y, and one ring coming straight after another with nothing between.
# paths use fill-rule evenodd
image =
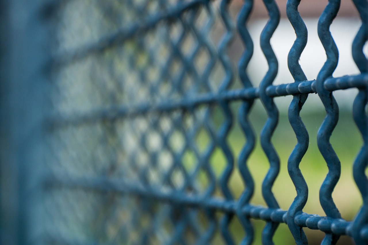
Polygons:
<instances>
[{"instance_id":1,"label":"third wavy blue vertical wire from the right edge","mask_svg":"<svg viewBox=\"0 0 368 245\"><path fill-rule=\"evenodd\" d=\"M300 1L301 0L288 0L286 4L287 17L296 33L296 40L294 41L287 57L288 67L295 82L307 80L307 77L299 64L300 55L303 52L305 45L307 45L308 39L307 27L298 11ZM308 94L294 95L288 110L289 122L297 137L297 145L290 154L287 162L287 170L295 185L297 196L287 211L287 226L298 245L308 244L307 237L305 236L302 227L297 226L294 221L295 217L302 213L308 199L308 185L299 168L301 159L307 152L309 145L308 131L300 117L300 110L307 100L307 97Z\"/></svg>"}]
</instances>

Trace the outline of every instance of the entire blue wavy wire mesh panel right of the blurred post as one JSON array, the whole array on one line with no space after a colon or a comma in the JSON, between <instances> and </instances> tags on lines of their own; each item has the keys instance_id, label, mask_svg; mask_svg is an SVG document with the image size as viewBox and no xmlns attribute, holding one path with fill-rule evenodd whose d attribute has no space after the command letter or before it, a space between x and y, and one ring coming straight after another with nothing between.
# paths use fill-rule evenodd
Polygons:
<instances>
[{"instance_id":1,"label":"entire blue wavy wire mesh panel right of the blurred post","mask_svg":"<svg viewBox=\"0 0 368 245\"><path fill-rule=\"evenodd\" d=\"M340 235L367 243L368 61L362 48L368 39L368 3L354 0L362 26L352 54L361 74L332 77L338 50L329 26L340 1L329 0L318 23L327 60L317 79L308 81L298 63L307 29L297 10L300 0L289 0L287 15L297 38L288 65L295 82L276 86L278 64L270 38L280 16L275 1L264 3L269 21L261 47L269 69L258 88L247 74L253 52L246 25L252 0L244 1L235 21L228 0L73 0L57 5L43 200L46 243L211 244L222 239L234 244L231 223L238 220L244 231L241 244L252 244L252 219L266 221L263 244L273 244L280 223L287 223L297 244L307 243L302 227L325 232L323 244L335 244ZM227 53L236 33L245 47L237 67ZM234 81L242 87L234 89ZM363 206L353 221L345 221L331 196L341 170L329 138L339 111L332 91L353 87L359 89L354 120L364 139L353 173ZM320 191L326 217L303 213L308 186L299 163L309 136L299 113L308 93L318 93L327 112L318 132L329 168ZM298 140L287 163L297 190L288 210L279 208L272 192L280 168L271 142L279 116L273 98L285 95L293 96L289 121ZM270 163L262 184L267 207L251 203L254 180L247 160L256 135L248 115L255 99L268 114L259 137ZM238 108L231 106L234 102L241 102ZM238 156L228 143L234 124L246 139ZM234 172L245 184L239 187L240 197L229 187Z\"/></svg>"}]
</instances>

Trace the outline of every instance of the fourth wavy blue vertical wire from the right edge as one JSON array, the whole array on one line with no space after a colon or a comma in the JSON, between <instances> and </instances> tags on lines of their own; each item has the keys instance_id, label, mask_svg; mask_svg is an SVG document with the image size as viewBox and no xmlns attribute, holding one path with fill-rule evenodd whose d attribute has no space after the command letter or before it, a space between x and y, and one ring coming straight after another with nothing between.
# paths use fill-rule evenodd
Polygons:
<instances>
[{"instance_id":1,"label":"fourth wavy blue vertical wire from the right edge","mask_svg":"<svg viewBox=\"0 0 368 245\"><path fill-rule=\"evenodd\" d=\"M277 58L272 50L270 39L275 32L277 25L279 25L280 12L274 0L263 0L263 3L268 10L269 20L261 33L261 49L268 63L268 71L259 85L259 97L267 111L268 119L261 131L261 146L269 160L270 168L262 182L262 195L268 207L271 209L279 209L279 204L271 190L280 171L280 159L271 143L273 132L275 131L279 121L279 111L273 102L273 98L266 95L266 88L272 85L278 70ZM278 226L279 223L272 221L268 221L266 223L266 226L262 231L262 244L273 245L272 237Z\"/></svg>"}]
</instances>

